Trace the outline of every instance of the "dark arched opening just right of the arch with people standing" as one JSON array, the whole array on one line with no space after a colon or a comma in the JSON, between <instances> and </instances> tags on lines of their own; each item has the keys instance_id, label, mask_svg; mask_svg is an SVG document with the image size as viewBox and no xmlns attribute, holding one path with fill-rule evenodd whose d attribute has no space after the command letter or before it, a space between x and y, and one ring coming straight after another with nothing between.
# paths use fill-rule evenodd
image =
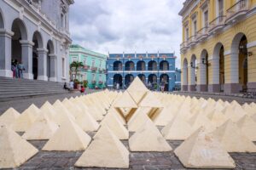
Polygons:
<instances>
[{"instance_id":1,"label":"dark arched opening just right of the arch with people standing","mask_svg":"<svg viewBox=\"0 0 256 170\"><path fill-rule=\"evenodd\" d=\"M38 79L38 48L43 48L43 40L41 34L36 31L33 34L32 41L34 43L34 46L32 48L32 73L33 78ZM44 65L41 63L41 65Z\"/></svg>"}]
</instances>

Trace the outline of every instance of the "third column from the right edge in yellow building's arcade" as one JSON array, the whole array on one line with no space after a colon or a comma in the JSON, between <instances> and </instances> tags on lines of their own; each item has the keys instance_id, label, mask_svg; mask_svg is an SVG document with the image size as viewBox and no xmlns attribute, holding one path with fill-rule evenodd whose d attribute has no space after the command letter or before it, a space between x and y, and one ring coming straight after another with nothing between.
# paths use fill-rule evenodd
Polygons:
<instances>
[{"instance_id":1,"label":"third column from the right edge in yellow building's arcade","mask_svg":"<svg viewBox=\"0 0 256 170\"><path fill-rule=\"evenodd\" d=\"M209 92L220 92L220 85L219 85L219 58L215 57L211 61L211 67L212 69L212 81L211 84L208 85L208 91Z\"/></svg>"}]
</instances>

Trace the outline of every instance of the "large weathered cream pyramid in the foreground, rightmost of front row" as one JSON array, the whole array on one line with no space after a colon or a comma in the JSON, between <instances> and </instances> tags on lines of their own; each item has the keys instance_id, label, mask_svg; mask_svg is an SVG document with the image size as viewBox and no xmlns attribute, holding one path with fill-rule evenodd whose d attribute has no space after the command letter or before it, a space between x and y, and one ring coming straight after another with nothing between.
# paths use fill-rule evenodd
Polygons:
<instances>
[{"instance_id":1,"label":"large weathered cream pyramid in the foreground, rightmost of front row","mask_svg":"<svg viewBox=\"0 0 256 170\"><path fill-rule=\"evenodd\" d=\"M199 128L176 150L175 155L189 168L235 168L236 163L218 139Z\"/></svg>"}]
</instances>

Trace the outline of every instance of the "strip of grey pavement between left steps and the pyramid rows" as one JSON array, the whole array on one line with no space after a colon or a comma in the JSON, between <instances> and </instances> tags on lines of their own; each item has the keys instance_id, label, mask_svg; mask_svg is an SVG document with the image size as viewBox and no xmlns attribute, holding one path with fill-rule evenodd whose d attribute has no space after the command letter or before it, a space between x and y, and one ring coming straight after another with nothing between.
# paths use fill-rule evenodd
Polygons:
<instances>
[{"instance_id":1,"label":"strip of grey pavement between left steps and the pyramid rows","mask_svg":"<svg viewBox=\"0 0 256 170\"><path fill-rule=\"evenodd\" d=\"M86 94L90 94L96 92L95 90L87 90ZM26 108L28 108L30 105L34 104L38 107L41 107L44 105L45 101L49 101L49 103L53 104L55 103L56 99L65 99L65 98L71 98L81 95L79 92L73 93L73 94L57 94L57 95L49 95L49 96L43 96L43 97L34 97L30 99L17 99L12 101L6 101L6 102L0 102L0 115L3 114L4 111L8 110L9 107L15 108L15 110L19 111L20 113Z\"/></svg>"}]
</instances>

